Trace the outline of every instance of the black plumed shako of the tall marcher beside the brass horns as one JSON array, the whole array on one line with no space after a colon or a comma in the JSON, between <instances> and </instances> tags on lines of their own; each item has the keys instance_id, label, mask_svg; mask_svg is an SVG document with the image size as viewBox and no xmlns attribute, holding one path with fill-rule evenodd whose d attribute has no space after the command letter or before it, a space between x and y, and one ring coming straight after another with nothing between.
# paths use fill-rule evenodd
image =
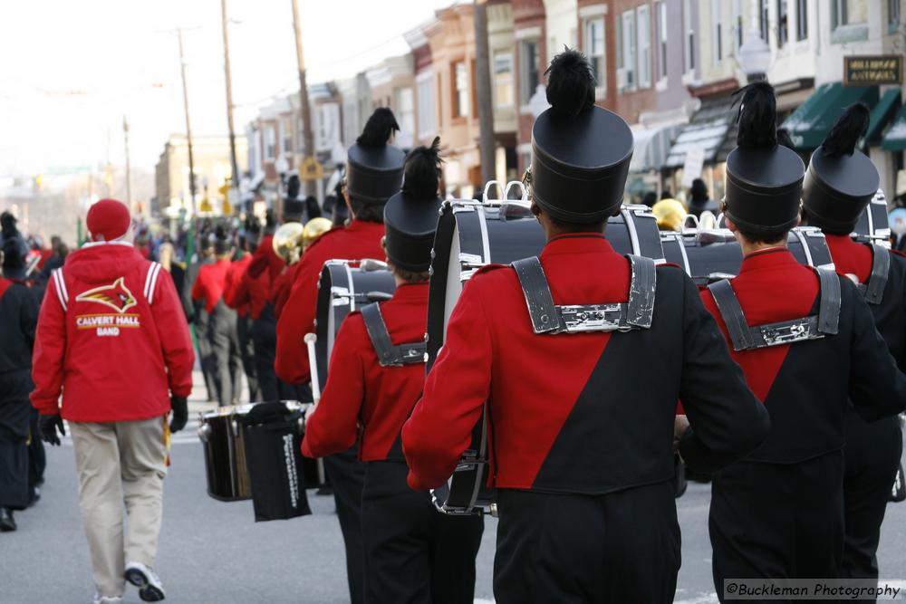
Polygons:
<instances>
[{"instance_id":1,"label":"black plumed shako of the tall marcher beside the brass horns","mask_svg":"<svg viewBox=\"0 0 906 604\"><path fill-rule=\"evenodd\" d=\"M386 107L374 110L361 136L346 154L346 189L363 204L381 205L400 190L406 154L388 145L400 129L393 112Z\"/></svg>"}]
</instances>

